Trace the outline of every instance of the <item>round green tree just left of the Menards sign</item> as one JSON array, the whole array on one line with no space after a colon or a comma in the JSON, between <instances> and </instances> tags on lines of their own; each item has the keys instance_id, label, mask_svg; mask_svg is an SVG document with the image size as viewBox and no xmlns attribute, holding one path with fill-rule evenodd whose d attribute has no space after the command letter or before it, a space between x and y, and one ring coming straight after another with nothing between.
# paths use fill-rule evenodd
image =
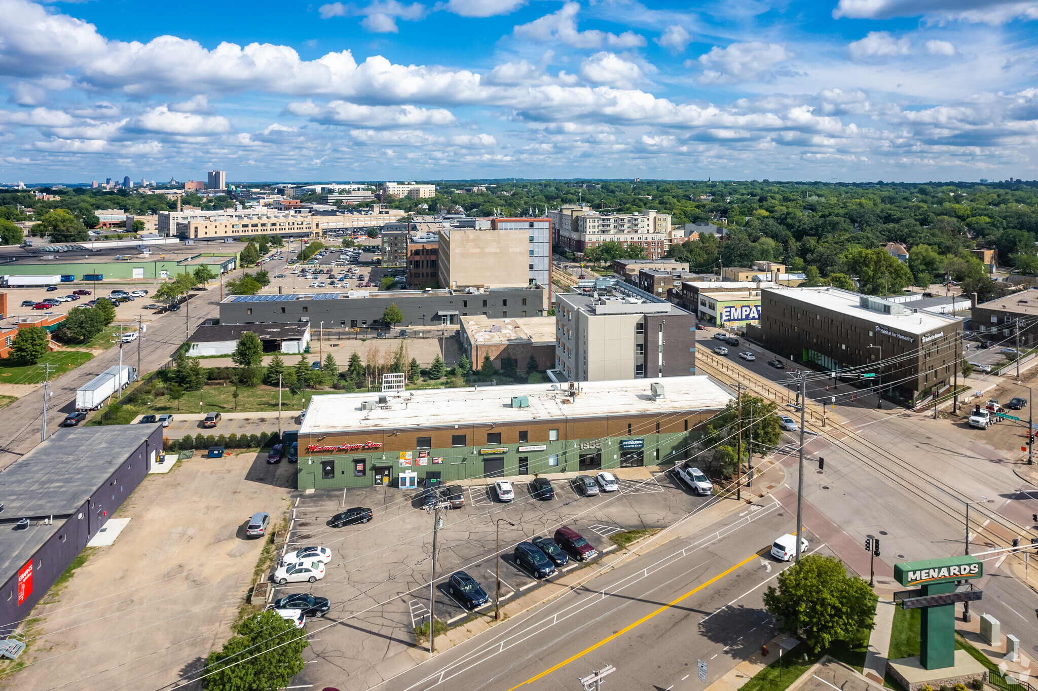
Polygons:
<instances>
[{"instance_id":1,"label":"round green tree just left of the Menards sign","mask_svg":"<svg viewBox=\"0 0 1038 691\"><path fill-rule=\"evenodd\" d=\"M778 574L777 587L764 593L764 606L781 623L781 630L816 653L871 630L875 601L864 579L847 576L841 560L821 554L802 557Z\"/></svg>"}]
</instances>

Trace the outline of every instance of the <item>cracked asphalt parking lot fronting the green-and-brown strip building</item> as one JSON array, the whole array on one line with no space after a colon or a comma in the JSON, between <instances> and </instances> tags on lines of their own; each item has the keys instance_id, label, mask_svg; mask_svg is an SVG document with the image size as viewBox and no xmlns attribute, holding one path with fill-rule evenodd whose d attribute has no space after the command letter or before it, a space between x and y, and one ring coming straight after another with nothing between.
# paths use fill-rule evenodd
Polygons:
<instances>
[{"instance_id":1,"label":"cracked asphalt parking lot fronting the green-and-brown strip building","mask_svg":"<svg viewBox=\"0 0 1038 691\"><path fill-rule=\"evenodd\" d=\"M464 488L465 505L442 510L437 535L436 618L448 626L464 625L469 616L492 616L495 604L495 559L499 526L501 604L557 580L618 549L609 540L618 532L663 528L709 501L695 496L673 473L645 479L621 479L619 490L582 497L570 481L552 482L554 500L538 500L527 482L514 483L516 498L502 503L492 485ZM329 519L346 506L371 507L374 519L363 525L328 527ZM322 619L307 623L320 630L307 648L307 664L297 678L320 688L367 688L414 664L413 629L429 619L430 558L434 516L418 507L413 491L371 488L344 492L318 491L299 495L289 550L320 545L332 550L326 576L308 583L277 586L277 596L312 591L332 603ZM499 522L499 523L498 523ZM516 544L538 535L552 536L559 526L576 529L597 553L588 562L573 560L538 579L516 562ZM448 591L447 579L465 571L489 596L471 614ZM337 626L329 626L336 625ZM325 628L328 627L328 628Z\"/></svg>"}]
</instances>

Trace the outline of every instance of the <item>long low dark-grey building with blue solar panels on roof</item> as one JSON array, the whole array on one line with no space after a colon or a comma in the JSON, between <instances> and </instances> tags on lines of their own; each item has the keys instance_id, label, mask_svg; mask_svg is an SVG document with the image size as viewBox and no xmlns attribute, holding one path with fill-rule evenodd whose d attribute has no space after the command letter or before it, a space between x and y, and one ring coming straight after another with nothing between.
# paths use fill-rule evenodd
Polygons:
<instances>
[{"instance_id":1,"label":"long low dark-grey building with blue solar panels on roof","mask_svg":"<svg viewBox=\"0 0 1038 691\"><path fill-rule=\"evenodd\" d=\"M292 324L311 328L363 329L388 326L386 307L395 304L404 314L397 326L458 325L469 314L488 319L541 316L544 288L540 285L467 291L355 291L309 295L241 295L220 303L220 324Z\"/></svg>"}]
</instances>

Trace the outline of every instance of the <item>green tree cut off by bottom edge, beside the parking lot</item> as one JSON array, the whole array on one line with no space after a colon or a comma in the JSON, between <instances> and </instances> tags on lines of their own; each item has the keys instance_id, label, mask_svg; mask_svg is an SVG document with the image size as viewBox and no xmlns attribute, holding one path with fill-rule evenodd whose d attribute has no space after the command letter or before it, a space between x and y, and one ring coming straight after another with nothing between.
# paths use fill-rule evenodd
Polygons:
<instances>
[{"instance_id":1,"label":"green tree cut off by bottom edge, beside the parking lot","mask_svg":"<svg viewBox=\"0 0 1038 691\"><path fill-rule=\"evenodd\" d=\"M273 610L250 616L206 661L206 691L282 689L303 670L306 632Z\"/></svg>"}]
</instances>

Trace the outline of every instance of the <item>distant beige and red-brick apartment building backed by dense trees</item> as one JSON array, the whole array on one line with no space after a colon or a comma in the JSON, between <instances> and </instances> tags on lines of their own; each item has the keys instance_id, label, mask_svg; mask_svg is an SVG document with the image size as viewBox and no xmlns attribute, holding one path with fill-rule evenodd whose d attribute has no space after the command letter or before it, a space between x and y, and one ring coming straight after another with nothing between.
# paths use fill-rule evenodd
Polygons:
<instances>
[{"instance_id":1,"label":"distant beige and red-brick apartment building backed by dense trees","mask_svg":"<svg viewBox=\"0 0 1038 691\"><path fill-rule=\"evenodd\" d=\"M558 244L570 252L583 252L610 242L624 247L640 245L650 259L658 259L666 252L672 229L670 214L652 209L633 214L572 210L569 217L570 229L559 229Z\"/></svg>"}]
</instances>

